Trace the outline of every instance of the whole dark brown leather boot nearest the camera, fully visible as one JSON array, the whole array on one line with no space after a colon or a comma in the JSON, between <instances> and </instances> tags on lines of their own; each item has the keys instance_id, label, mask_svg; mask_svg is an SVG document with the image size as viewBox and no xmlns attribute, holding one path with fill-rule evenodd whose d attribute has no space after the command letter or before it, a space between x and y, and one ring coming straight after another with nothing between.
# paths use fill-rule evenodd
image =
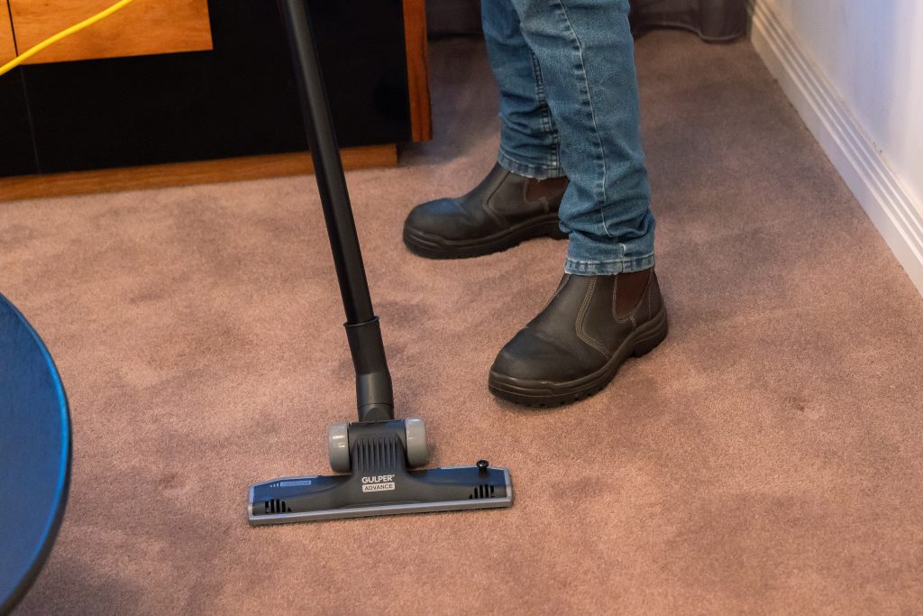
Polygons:
<instances>
[{"instance_id":1,"label":"whole dark brown leather boot nearest the camera, fully visible","mask_svg":"<svg viewBox=\"0 0 923 616\"><path fill-rule=\"evenodd\" d=\"M497 355L488 386L521 405L575 402L602 390L629 356L651 351L666 332L653 268L565 274L545 309Z\"/></svg>"}]
</instances>

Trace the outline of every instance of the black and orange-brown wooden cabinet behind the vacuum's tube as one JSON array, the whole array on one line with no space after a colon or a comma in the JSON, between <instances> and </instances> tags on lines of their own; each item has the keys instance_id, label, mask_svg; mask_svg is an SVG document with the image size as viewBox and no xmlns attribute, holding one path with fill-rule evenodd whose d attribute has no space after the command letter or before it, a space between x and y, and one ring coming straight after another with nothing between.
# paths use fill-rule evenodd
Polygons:
<instances>
[{"instance_id":1,"label":"black and orange-brown wooden cabinet behind the vacuum's tube","mask_svg":"<svg viewBox=\"0 0 923 616\"><path fill-rule=\"evenodd\" d=\"M71 17L65 19L53 12L46 23L37 8L91 5L92 12L112 1L9 0L11 8L20 5L13 10L19 51L24 51L19 18L35 24L31 44L66 27L66 21L87 17L67 11ZM305 2L337 137L342 148L351 149L344 163L393 164L396 144L429 139L424 0ZM31 17L21 8L27 5ZM135 5L141 10L132 17ZM185 6L186 21L174 13L165 18L160 6L173 6L170 11ZM98 29L122 12L131 18L125 31L101 36L108 30ZM276 2L135 0L120 13L80 32L86 42L63 51L49 48L36 56L41 62L0 78L0 136L5 139L0 178L8 177L0 179L0 201L70 190L54 188L51 175L103 178L94 185L80 175L74 191L85 192L94 186L155 186L305 169L304 130ZM134 23L135 18L141 21ZM167 30L175 31L168 35ZM288 155L294 159L281 158ZM260 156L267 158L256 160ZM221 163L232 158L237 162ZM150 166L165 164L172 166ZM186 174L182 164L193 165L194 172ZM252 171L241 171L242 164ZM203 174L205 168L218 172ZM229 171L222 175L222 169ZM34 176L9 177L25 174Z\"/></svg>"}]
</instances>

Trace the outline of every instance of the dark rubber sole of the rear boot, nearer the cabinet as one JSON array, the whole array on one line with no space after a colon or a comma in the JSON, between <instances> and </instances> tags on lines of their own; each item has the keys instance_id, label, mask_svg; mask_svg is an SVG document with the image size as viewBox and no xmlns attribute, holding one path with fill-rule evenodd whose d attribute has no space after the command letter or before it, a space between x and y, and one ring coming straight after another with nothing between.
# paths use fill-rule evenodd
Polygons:
<instances>
[{"instance_id":1,"label":"dark rubber sole of the rear boot, nearer the cabinet","mask_svg":"<svg viewBox=\"0 0 923 616\"><path fill-rule=\"evenodd\" d=\"M557 225L557 213L545 214L491 236L470 240L450 240L417 231L404 225L403 241L415 255L426 259L468 259L489 255L520 245L535 237L565 239Z\"/></svg>"}]
</instances>

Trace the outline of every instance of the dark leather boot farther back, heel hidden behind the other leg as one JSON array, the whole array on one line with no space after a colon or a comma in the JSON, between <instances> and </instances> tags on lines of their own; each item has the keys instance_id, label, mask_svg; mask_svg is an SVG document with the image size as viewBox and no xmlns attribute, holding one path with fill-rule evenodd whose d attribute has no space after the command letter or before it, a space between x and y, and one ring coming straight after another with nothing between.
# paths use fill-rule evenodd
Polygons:
<instances>
[{"instance_id":1,"label":"dark leather boot farther back, heel hidden behind the other leg","mask_svg":"<svg viewBox=\"0 0 923 616\"><path fill-rule=\"evenodd\" d=\"M421 257L462 259L533 237L563 239L557 207L567 187L567 177L536 180L497 164L463 197L416 206L404 222L404 244Z\"/></svg>"}]
</instances>

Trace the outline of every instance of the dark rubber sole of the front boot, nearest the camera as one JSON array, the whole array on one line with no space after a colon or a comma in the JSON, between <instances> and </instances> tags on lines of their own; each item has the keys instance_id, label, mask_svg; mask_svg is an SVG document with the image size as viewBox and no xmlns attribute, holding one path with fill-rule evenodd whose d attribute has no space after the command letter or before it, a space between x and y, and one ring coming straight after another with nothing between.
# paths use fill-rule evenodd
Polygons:
<instances>
[{"instance_id":1,"label":"dark rubber sole of the front boot, nearest the camera","mask_svg":"<svg viewBox=\"0 0 923 616\"><path fill-rule=\"evenodd\" d=\"M568 405L602 391L616 377L618 368L625 363L626 359L630 356L640 357L650 353L657 344L664 341L668 331L666 307L661 306L653 319L642 324L629 335L618 347L616 353L605 363L605 366L585 377L566 382L525 380L491 370L487 387L494 395L517 405Z\"/></svg>"}]
</instances>

